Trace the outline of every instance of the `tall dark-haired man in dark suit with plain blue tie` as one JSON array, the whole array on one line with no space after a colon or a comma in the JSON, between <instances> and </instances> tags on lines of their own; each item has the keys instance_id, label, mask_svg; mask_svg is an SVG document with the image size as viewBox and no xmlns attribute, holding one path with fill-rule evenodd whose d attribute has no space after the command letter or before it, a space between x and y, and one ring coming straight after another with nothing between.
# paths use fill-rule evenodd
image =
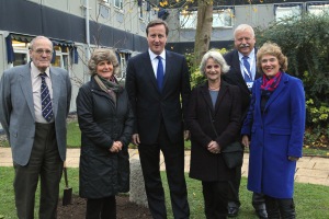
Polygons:
<instances>
[{"instance_id":1,"label":"tall dark-haired man in dark suit with plain blue tie","mask_svg":"<svg viewBox=\"0 0 329 219\"><path fill-rule=\"evenodd\" d=\"M168 32L162 20L147 25L149 49L129 59L126 77L126 89L136 116L133 142L138 145L148 205L157 219L167 218L160 150L164 157L174 218L190 216L183 139L183 115L191 93L190 74L185 58L164 49Z\"/></svg>"}]
</instances>

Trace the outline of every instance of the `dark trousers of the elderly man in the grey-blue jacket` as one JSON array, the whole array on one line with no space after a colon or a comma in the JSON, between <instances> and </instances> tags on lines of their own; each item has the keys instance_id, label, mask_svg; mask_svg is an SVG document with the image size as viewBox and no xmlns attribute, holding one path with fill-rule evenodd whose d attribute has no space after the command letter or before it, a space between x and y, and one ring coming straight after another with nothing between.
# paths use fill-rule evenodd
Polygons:
<instances>
[{"instance_id":1,"label":"dark trousers of the elderly man in the grey-blue jacket","mask_svg":"<svg viewBox=\"0 0 329 219\"><path fill-rule=\"evenodd\" d=\"M27 165L14 163L14 193L18 217L34 218L35 191L41 178L39 219L55 219L63 161L59 157L54 124L36 124Z\"/></svg>"}]
</instances>

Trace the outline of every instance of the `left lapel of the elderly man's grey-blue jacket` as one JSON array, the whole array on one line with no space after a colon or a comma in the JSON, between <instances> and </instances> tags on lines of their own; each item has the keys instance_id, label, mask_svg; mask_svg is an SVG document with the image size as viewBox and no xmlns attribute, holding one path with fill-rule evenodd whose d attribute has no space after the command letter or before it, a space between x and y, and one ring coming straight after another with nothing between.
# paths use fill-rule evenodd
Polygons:
<instances>
[{"instance_id":1,"label":"left lapel of the elderly man's grey-blue jacket","mask_svg":"<svg viewBox=\"0 0 329 219\"><path fill-rule=\"evenodd\" d=\"M26 65L26 68L24 71L20 72L20 76L21 76L20 84L22 88L23 95L26 100L26 103L29 105L29 108L30 108L30 112L31 112L33 118L35 118L30 64ZM30 81L30 83L29 83L29 81Z\"/></svg>"}]
</instances>

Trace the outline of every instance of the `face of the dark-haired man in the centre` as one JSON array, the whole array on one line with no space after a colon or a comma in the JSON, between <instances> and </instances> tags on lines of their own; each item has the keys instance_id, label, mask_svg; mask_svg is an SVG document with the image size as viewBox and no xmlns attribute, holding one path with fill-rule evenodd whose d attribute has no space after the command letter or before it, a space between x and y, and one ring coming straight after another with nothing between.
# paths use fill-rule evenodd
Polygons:
<instances>
[{"instance_id":1,"label":"face of the dark-haired man in the centre","mask_svg":"<svg viewBox=\"0 0 329 219\"><path fill-rule=\"evenodd\" d=\"M147 42L150 50L160 55L164 50L167 43L166 27L163 24L155 25L148 28Z\"/></svg>"}]
</instances>

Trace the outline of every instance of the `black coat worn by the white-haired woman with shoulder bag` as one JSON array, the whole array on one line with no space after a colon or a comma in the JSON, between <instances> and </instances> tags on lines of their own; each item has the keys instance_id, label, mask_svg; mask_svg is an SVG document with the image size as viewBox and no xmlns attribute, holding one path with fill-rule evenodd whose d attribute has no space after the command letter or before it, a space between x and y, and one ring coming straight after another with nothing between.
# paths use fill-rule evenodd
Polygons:
<instances>
[{"instance_id":1,"label":"black coat worn by the white-haired woman with shoulder bag","mask_svg":"<svg viewBox=\"0 0 329 219\"><path fill-rule=\"evenodd\" d=\"M234 171L226 166L222 154L211 153L207 145L215 140L225 148L238 140L240 117L241 100L238 87L222 81L215 110L207 82L193 89L186 118L192 142L190 177L206 182L227 181L232 177Z\"/></svg>"}]
</instances>

